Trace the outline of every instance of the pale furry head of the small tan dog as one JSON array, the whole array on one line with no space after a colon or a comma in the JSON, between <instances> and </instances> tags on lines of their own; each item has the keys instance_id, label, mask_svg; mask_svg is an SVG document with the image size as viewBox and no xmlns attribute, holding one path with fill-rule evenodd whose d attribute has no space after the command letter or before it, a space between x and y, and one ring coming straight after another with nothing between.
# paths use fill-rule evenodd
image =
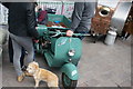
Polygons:
<instances>
[{"instance_id":1,"label":"pale furry head of the small tan dog","mask_svg":"<svg viewBox=\"0 0 133 89\"><path fill-rule=\"evenodd\" d=\"M29 63L29 66L28 66L28 68L27 68L27 71L29 72L29 73L35 73L35 71L39 69L39 63L38 62L35 62L35 61L33 61L33 62L31 62L31 63Z\"/></svg>"}]
</instances>

